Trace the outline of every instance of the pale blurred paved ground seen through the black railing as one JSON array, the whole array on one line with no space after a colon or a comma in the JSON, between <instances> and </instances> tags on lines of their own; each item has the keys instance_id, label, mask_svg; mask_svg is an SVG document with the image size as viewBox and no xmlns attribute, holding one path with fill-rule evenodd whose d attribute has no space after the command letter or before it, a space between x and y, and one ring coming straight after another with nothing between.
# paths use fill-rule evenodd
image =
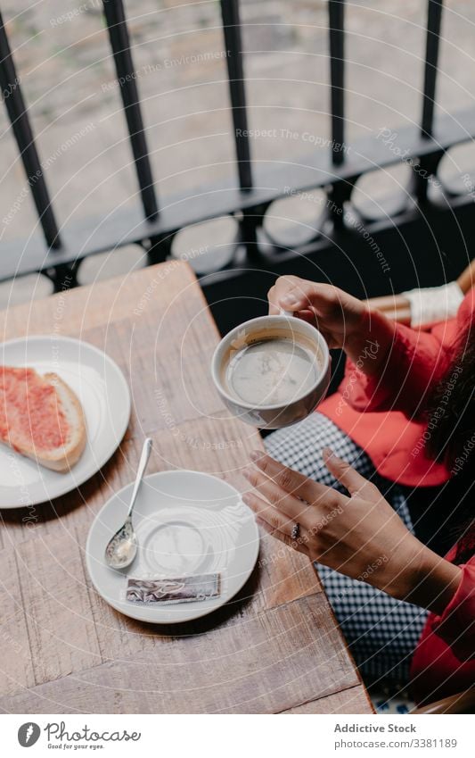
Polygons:
<instances>
[{"instance_id":1,"label":"pale blurred paved ground seen through the black railing","mask_svg":"<svg viewBox=\"0 0 475 758\"><path fill-rule=\"evenodd\" d=\"M299 158L329 136L327 15L323 0L242 0L250 128L257 162ZM126 3L152 166L167 196L233 176L225 50L217 2ZM420 117L422 0L348 3L348 139ZM124 116L99 0L4 0L4 18L61 223L136 203ZM438 108L472 104L475 4L449 0ZM286 136L286 130L293 133ZM0 109L0 238L36 233L28 185ZM308 137L310 135L310 137ZM455 154L456 158L456 154ZM471 147L460 165L471 160ZM475 160L472 161L475 164ZM455 165L447 171L457 172ZM400 173L374 187L387 191ZM386 185L386 186L384 186ZM6 221L5 221L6 220ZM139 263L136 250L92 263L86 279ZM98 270L98 266L102 270ZM33 296L23 282L16 297ZM44 294L43 283L41 291ZM2 287L0 300L11 287Z\"/></svg>"}]
</instances>

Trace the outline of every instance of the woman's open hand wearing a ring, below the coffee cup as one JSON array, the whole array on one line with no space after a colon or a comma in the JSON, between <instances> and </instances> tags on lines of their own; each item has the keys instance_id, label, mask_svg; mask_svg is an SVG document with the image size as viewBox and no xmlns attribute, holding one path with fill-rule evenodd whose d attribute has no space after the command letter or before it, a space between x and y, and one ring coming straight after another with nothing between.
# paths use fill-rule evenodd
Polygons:
<instances>
[{"instance_id":1,"label":"woman's open hand wearing a ring, below the coffee cup","mask_svg":"<svg viewBox=\"0 0 475 758\"><path fill-rule=\"evenodd\" d=\"M371 482L331 451L323 454L349 496L325 487L268 455L251 455L244 472L253 489L243 496L274 537L352 579L400 600L442 612L461 570L440 558L405 528ZM292 538L295 524L299 537Z\"/></svg>"}]
</instances>

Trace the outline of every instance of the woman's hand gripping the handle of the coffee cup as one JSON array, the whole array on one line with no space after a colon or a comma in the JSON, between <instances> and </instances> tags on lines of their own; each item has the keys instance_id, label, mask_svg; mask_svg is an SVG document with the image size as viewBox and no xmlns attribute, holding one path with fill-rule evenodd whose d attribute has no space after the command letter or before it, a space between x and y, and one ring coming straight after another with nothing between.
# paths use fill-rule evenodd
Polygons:
<instances>
[{"instance_id":1,"label":"woman's hand gripping the handle of the coffee cup","mask_svg":"<svg viewBox=\"0 0 475 758\"><path fill-rule=\"evenodd\" d=\"M269 313L292 311L313 323L328 346L341 347L367 374L381 371L394 337L394 323L338 287L299 277L280 277L271 287Z\"/></svg>"}]
</instances>

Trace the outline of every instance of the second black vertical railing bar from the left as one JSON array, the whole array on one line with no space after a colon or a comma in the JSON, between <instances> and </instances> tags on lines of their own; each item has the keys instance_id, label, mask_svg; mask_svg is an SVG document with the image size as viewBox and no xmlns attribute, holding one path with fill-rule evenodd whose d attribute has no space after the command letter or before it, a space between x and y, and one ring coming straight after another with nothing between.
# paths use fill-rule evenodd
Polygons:
<instances>
[{"instance_id":1,"label":"second black vertical railing bar from the left","mask_svg":"<svg viewBox=\"0 0 475 758\"><path fill-rule=\"evenodd\" d=\"M143 128L138 88L134 76L134 63L130 50L126 14L122 0L102 0L112 53L119 81L120 95L127 119L127 128L135 159L135 171L142 196L145 218L153 220L159 209L153 186L147 141Z\"/></svg>"}]
</instances>

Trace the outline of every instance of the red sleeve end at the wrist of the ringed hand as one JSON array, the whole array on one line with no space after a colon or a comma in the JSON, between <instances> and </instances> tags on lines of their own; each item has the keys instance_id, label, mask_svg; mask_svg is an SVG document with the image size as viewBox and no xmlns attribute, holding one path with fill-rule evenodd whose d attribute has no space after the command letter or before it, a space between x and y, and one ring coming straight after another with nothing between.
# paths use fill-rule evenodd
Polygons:
<instances>
[{"instance_id":1,"label":"red sleeve end at the wrist of the ringed hand","mask_svg":"<svg viewBox=\"0 0 475 758\"><path fill-rule=\"evenodd\" d=\"M430 621L432 631L450 646L459 661L475 657L475 561L465 563L455 595L440 616Z\"/></svg>"}]
</instances>

